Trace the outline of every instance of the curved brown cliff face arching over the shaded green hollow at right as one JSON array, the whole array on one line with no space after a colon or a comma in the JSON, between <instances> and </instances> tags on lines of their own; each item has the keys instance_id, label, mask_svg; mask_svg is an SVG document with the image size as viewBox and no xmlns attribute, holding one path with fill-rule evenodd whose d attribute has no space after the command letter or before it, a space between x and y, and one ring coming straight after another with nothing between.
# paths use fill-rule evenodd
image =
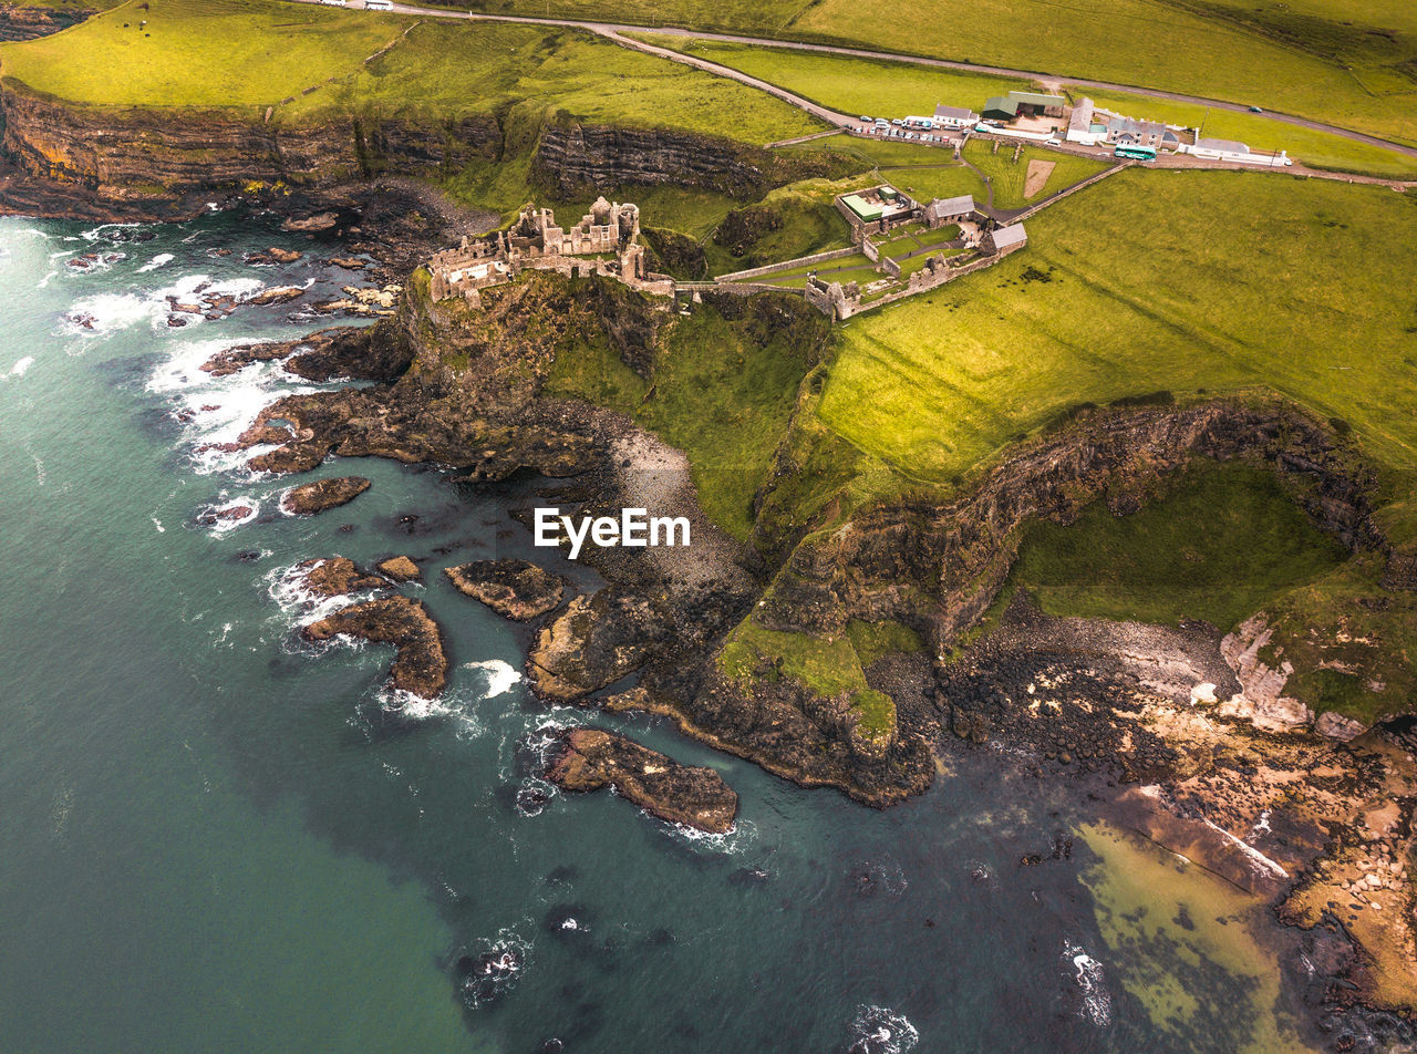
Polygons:
<instances>
[{"instance_id":1,"label":"curved brown cliff face arching over the shaded green hollow at right","mask_svg":"<svg viewBox=\"0 0 1417 1054\"><path fill-rule=\"evenodd\" d=\"M1193 456L1272 468L1348 548L1382 544L1369 516L1374 480L1292 408L1214 401L1110 412L999 465L951 504L876 510L803 543L758 618L772 629L839 633L850 618L910 619L928 606L937 643L949 646L993 601L1026 521L1070 523L1095 499L1135 511L1148 480Z\"/></svg>"}]
</instances>

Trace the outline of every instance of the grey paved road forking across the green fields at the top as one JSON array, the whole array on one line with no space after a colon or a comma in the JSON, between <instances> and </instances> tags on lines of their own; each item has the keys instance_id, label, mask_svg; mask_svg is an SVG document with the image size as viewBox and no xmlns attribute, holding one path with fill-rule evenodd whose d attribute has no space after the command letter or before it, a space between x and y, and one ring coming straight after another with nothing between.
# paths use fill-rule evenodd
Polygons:
<instances>
[{"instance_id":1,"label":"grey paved road forking across the green fields at the top","mask_svg":"<svg viewBox=\"0 0 1417 1054\"><path fill-rule=\"evenodd\" d=\"M293 3L320 3L320 0L293 0ZM655 27L655 26L625 26L625 24L621 24L621 23L582 21L582 20L577 20L577 18L536 18L536 17L531 17L531 16L514 16L514 14L482 14L482 13L475 13L475 11L455 11L455 10L451 10L451 8L439 8L439 7L417 7L417 6L412 6L412 4L401 4L401 3L395 3L393 6L393 13L395 13L395 14L417 14L417 16L429 17L429 18L461 18L463 21L520 23L520 24L526 24L526 26L557 26L557 27L564 27L564 28L585 30L588 33L595 33L595 34L598 34L601 37L605 37L605 38L614 41L615 44L619 44L621 47L626 47L626 48L631 48L633 51L640 51L640 52L643 52L646 55L656 55L659 58L665 58L665 60L669 60L672 62L682 62L684 65L690 65L690 67L694 67L697 69L703 69L706 72L710 72L710 74L714 74L714 75L718 75L718 76L731 78L734 81L738 81L740 84L748 85L750 88L757 88L758 91L764 91L768 95L772 95L774 98L782 99L784 102L788 102L792 106L796 106L798 109L805 110L806 113L811 113L812 116L815 116L819 120L823 120L823 122L826 122L829 125L833 125L833 126L842 128L842 129L847 129L847 130L857 130L857 132L862 130L862 122L856 116L852 116L852 115L847 115L847 113L839 113L837 110L828 109L826 106L822 106L820 103L816 103L812 99L808 99L808 98L803 98L803 96L796 95L794 92L789 92L785 88L781 88L781 86L778 86L775 84L769 84L769 82L762 81L762 79L760 79L757 76L750 76L748 74L744 74L744 72L741 72L738 69L733 69L731 67L720 65L717 62L710 62L708 60L699 58L697 55L686 55L686 54L682 54L679 51L674 51L673 48L662 48L662 47L657 47L655 44L646 44L645 41L635 40L633 37L628 37L625 34L629 34L629 33L656 33L656 34L660 34L660 35L683 37L683 38L689 38L689 40L713 40L713 41L723 41L723 42L728 42L728 44L750 44L750 45L754 45L754 47L792 48L795 51L816 51L816 52L825 52L825 54L832 54L832 55L849 55L849 57L853 57L853 58L873 58L873 60L886 60L886 61L893 61L893 62L911 62L911 64L915 64L915 65L937 67L937 68L941 68L941 69L958 69L958 71L973 72L973 74L995 74L995 75L999 75L999 76L1015 76L1015 78L1026 78L1026 79L1032 79L1032 81L1047 81L1049 84L1053 84L1053 85L1066 85L1066 86L1073 86L1073 88L1093 88L1093 89L1098 89L1098 91L1132 92L1135 95L1145 95L1145 96L1151 96L1151 98L1155 98L1155 99L1172 99L1172 101L1178 101L1178 102L1193 102L1193 103L1199 103L1199 105L1203 105L1203 106L1210 106L1213 109L1233 110L1236 113L1247 113L1248 112L1248 106L1244 106L1241 103L1226 102L1223 99L1209 99L1209 98L1206 98L1203 95L1185 95L1182 92L1166 92L1166 91L1156 89L1156 88L1142 88L1139 85L1115 84L1115 82L1111 82L1111 81L1088 81L1088 79L1076 78L1076 76L1057 76L1057 75L1040 72L1040 71L1036 71L1036 69L1009 69L1006 67L978 65L978 64L973 64L973 62L955 62L952 60L945 60L945 58L924 58L924 57L917 57L917 55L900 55L900 54L890 52L890 51L870 51L870 50L866 50L866 48L846 48L846 47L835 47L835 45L830 45L830 44L803 44L803 42L799 42L799 41L772 40L772 38L768 38L768 37L738 37L738 35L728 34L728 33L704 33L704 31L699 31L699 30L679 30L679 28L665 28L665 27ZM1380 139L1377 136L1370 136L1370 135L1367 135L1365 132L1353 132L1352 129L1338 128L1338 126L1333 126L1333 125L1325 125L1323 122L1311 120L1308 118L1294 116L1291 113L1274 113L1274 112L1267 110L1264 115L1257 115L1257 116L1263 116L1263 118L1265 118L1268 120L1277 120L1277 122L1281 122L1281 123L1285 123L1285 125L1294 125L1294 126L1298 126L1298 128L1308 128L1308 129L1314 129L1314 130L1318 130L1318 132L1328 132L1328 133L1332 133L1332 135L1336 135L1336 136L1342 136L1343 139L1350 139L1350 140L1357 142L1357 143L1367 143L1370 146L1379 146L1379 147L1383 147L1383 149L1393 150L1396 153L1404 154L1407 157L1417 159L1417 147L1406 146L1403 143L1394 143L1391 140ZM1172 167L1172 166L1168 166L1168 167ZM1175 166L1175 167L1227 169L1227 170L1234 170L1234 169L1243 169L1243 170L1258 169L1260 171L1272 171L1272 169L1265 169L1263 166L1230 164L1230 163L1224 163L1224 162L1203 162L1200 159L1193 159L1193 157L1187 157L1185 166ZM1349 177L1349 176L1345 176L1345 174L1322 171L1322 170L1318 170L1318 169L1304 169L1301 166L1294 166L1294 167L1289 167L1289 169L1278 169L1278 171L1288 171L1288 173L1299 174L1299 176L1312 176L1315 178L1328 178L1328 180L1339 180L1339 181L1350 181L1350 183L1376 183L1376 184L1382 184L1382 186L1403 187L1403 188L1417 186L1417 183L1413 183L1413 181L1384 180L1384 178L1369 177L1369 176Z\"/></svg>"}]
</instances>

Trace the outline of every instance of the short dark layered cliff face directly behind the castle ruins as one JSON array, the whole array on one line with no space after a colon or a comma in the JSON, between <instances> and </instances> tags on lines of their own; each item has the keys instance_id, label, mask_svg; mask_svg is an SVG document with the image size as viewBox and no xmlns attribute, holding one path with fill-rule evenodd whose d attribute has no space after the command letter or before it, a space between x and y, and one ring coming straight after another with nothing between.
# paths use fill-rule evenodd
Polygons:
<instances>
[{"instance_id":1,"label":"short dark layered cliff face directly behind the castle ruins","mask_svg":"<svg viewBox=\"0 0 1417 1054\"><path fill-rule=\"evenodd\" d=\"M534 173L567 197L587 187L662 184L761 197L792 180L832 174L836 164L689 132L575 125L541 133Z\"/></svg>"}]
</instances>

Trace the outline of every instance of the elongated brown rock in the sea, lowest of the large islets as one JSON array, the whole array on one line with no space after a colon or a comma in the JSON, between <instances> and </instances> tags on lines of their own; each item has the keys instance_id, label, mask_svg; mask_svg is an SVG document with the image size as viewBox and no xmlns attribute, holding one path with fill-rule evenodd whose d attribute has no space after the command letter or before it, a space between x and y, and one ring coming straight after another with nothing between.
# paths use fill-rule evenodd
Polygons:
<instances>
[{"instance_id":1,"label":"elongated brown rock in the sea, lowest of the large islets","mask_svg":"<svg viewBox=\"0 0 1417 1054\"><path fill-rule=\"evenodd\" d=\"M565 790L614 786L645 812L714 834L733 827L738 795L710 768L690 768L599 728L560 732L547 779Z\"/></svg>"}]
</instances>

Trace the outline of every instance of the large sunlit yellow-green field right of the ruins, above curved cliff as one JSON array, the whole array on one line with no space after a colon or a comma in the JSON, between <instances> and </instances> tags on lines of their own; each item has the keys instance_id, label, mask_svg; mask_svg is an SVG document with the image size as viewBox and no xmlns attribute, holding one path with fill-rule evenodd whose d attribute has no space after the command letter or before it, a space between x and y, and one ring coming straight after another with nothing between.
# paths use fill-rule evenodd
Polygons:
<instances>
[{"instance_id":1,"label":"large sunlit yellow-green field right of the ruins, above curved cliff","mask_svg":"<svg viewBox=\"0 0 1417 1054\"><path fill-rule=\"evenodd\" d=\"M1417 207L1258 173L1128 171L988 271L853 319L822 419L948 480L1077 402L1272 390L1417 468Z\"/></svg>"}]
</instances>

